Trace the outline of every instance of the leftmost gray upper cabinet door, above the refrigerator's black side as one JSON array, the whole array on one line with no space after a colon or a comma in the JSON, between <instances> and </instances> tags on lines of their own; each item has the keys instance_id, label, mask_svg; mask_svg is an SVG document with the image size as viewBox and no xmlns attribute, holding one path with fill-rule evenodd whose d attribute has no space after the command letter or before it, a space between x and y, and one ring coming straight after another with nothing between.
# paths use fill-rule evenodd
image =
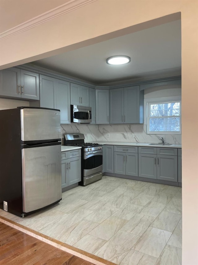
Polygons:
<instances>
[{"instance_id":1,"label":"leftmost gray upper cabinet door, above the refrigerator's black side","mask_svg":"<svg viewBox=\"0 0 198 265\"><path fill-rule=\"evenodd\" d=\"M20 84L20 69L11 67L0 71L0 95L21 98Z\"/></svg>"}]
</instances>

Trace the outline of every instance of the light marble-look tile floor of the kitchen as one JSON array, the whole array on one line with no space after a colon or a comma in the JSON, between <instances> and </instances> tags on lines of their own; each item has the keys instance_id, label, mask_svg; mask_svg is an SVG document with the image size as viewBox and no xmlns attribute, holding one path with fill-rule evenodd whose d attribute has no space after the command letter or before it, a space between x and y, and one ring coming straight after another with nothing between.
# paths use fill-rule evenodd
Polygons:
<instances>
[{"instance_id":1,"label":"light marble-look tile floor of the kitchen","mask_svg":"<svg viewBox=\"0 0 198 265\"><path fill-rule=\"evenodd\" d=\"M116 264L182 264L180 187L103 176L25 218L0 215Z\"/></svg>"}]
</instances>

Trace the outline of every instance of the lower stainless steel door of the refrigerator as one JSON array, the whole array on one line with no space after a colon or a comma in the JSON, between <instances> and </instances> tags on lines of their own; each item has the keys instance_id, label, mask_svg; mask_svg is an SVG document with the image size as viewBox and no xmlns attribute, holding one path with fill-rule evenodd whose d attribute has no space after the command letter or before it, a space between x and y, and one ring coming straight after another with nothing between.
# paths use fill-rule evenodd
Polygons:
<instances>
[{"instance_id":1,"label":"lower stainless steel door of the refrigerator","mask_svg":"<svg viewBox=\"0 0 198 265\"><path fill-rule=\"evenodd\" d=\"M62 198L61 145L24 148L23 212L32 212Z\"/></svg>"}]
</instances>

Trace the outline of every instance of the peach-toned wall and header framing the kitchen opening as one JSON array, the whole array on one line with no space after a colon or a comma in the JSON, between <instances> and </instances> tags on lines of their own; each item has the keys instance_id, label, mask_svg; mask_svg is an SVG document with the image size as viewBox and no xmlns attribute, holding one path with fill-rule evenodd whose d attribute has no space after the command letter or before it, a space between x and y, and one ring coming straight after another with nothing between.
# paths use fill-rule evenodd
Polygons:
<instances>
[{"instance_id":1,"label":"peach-toned wall and header framing the kitchen opening","mask_svg":"<svg viewBox=\"0 0 198 265\"><path fill-rule=\"evenodd\" d=\"M47 0L41 2L47 4ZM175 17L178 19L178 14L181 14L182 31L182 264L197 265L198 142L194 137L189 137L189 130L193 128L195 133L198 131L198 1L97 0L2 40L0 68L81 48L142 30L146 26L170 22Z\"/></svg>"}]
</instances>

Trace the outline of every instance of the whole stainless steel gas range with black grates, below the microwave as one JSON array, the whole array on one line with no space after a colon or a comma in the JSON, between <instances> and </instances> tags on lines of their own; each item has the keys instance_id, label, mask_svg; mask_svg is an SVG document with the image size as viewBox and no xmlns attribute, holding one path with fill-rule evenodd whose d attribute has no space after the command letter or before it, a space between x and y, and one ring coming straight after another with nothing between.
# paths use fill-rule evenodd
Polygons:
<instances>
[{"instance_id":1,"label":"whole stainless steel gas range with black grates, below the microwave","mask_svg":"<svg viewBox=\"0 0 198 265\"><path fill-rule=\"evenodd\" d=\"M74 133L64 135L64 145L82 147L80 185L85 186L102 178L101 144L85 143L84 134Z\"/></svg>"}]
</instances>

